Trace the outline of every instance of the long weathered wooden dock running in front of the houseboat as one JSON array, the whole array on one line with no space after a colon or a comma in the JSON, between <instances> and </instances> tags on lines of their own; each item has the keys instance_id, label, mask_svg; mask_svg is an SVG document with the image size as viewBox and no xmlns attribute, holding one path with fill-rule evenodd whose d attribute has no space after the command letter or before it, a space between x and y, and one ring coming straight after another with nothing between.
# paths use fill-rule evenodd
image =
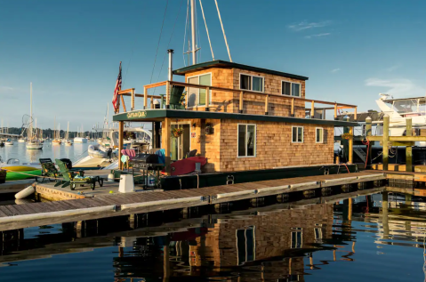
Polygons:
<instances>
[{"instance_id":1,"label":"long weathered wooden dock running in front of the houseboat","mask_svg":"<svg viewBox=\"0 0 426 282\"><path fill-rule=\"evenodd\" d=\"M201 189L101 194L97 197L55 202L3 205L0 206L0 230L150 213L199 205L215 205L242 199L385 179L384 173L368 171L257 181Z\"/></svg>"}]
</instances>

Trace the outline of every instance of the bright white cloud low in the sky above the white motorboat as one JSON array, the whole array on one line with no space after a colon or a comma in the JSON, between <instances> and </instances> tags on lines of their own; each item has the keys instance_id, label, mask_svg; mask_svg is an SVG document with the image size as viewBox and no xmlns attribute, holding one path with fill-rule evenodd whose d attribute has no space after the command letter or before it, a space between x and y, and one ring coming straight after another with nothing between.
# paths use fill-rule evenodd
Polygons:
<instances>
[{"instance_id":1,"label":"bright white cloud low in the sky above the white motorboat","mask_svg":"<svg viewBox=\"0 0 426 282\"><path fill-rule=\"evenodd\" d=\"M373 77L366 79L366 86L382 87L382 93L390 94L395 98L424 96L425 93L424 88L406 78L380 79Z\"/></svg>"}]
</instances>

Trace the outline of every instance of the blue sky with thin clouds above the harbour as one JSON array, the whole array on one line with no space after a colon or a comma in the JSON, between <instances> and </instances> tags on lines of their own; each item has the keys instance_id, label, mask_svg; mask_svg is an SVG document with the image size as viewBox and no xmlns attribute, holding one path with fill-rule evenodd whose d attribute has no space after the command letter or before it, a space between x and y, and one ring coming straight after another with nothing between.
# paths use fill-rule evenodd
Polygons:
<instances>
[{"instance_id":1,"label":"blue sky with thin clouds above the harbour","mask_svg":"<svg viewBox=\"0 0 426 282\"><path fill-rule=\"evenodd\" d=\"M183 55L188 0L0 0L0 119L102 123L118 65L123 89L167 78ZM216 60L229 60L213 0L203 0ZM379 93L424 96L423 1L218 0L232 60L309 77L306 98L377 109ZM199 61L212 60L197 0ZM163 28L162 28L163 25ZM160 36L161 34L161 36ZM186 52L187 50L185 50ZM156 55L157 54L157 55ZM155 68L154 68L155 65ZM164 93L163 89L157 93ZM141 109L142 99L136 99ZM126 104L130 107L130 101ZM112 109L109 110L109 119Z\"/></svg>"}]
</instances>

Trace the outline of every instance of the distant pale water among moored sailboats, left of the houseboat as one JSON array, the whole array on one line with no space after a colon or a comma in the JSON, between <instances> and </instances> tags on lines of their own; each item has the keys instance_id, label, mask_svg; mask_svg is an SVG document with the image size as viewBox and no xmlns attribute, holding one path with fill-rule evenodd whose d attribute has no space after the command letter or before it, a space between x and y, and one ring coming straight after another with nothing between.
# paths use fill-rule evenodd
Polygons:
<instances>
[{"instance_id":1,"label":"distant pale water among moored sailboats, left of the houseboat","mask_svg":"<svg viewBox=\"0 0 426 282\"><path fill-rule=\"evenodd\" d=\"M87 148L90 143L75 143L72 146L52 145L51 141L44 141L43 149L27 149L26 143L14 141L12 146L0 148L0 157L6 162L9 158L18 158L21 163L38 163L42 157L69 158L75 161L80 156L87 156Z\"/></svg>"}]
</instances>

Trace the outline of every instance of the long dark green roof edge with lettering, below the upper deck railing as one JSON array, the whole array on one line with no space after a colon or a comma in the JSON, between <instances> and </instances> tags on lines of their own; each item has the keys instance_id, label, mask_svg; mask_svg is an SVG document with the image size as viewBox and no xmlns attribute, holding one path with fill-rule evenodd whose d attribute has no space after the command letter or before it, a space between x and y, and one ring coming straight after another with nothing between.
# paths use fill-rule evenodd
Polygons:
<instances>
[{"instance_id":1,"label":"long dark green roof edge with lettering, below the upper deck railing","mask_svg":"<svg viewBox=\"0 0 426 282\"><path fill-rule=\"evenodd\" d=\"M161 121L165 117L172 118L209 118L209 119L237 119L258 120L267 122L281 122L292 124L334 125L334 126L358 126L356 122L342 120L327 120L301 117L276 117L268 115L248 115L237 113L224 113L213 111L197 111L184 109L140 109L114 115L113 121L152 122Z\"/></svg>"}]
</instances>

